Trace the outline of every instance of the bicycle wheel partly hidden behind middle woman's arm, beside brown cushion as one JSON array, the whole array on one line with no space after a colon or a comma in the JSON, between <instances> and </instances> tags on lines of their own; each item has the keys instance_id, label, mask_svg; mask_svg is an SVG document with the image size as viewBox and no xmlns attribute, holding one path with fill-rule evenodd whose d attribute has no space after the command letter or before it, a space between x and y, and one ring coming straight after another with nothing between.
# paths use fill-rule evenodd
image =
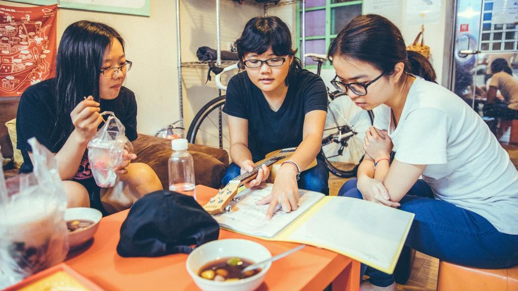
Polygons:
<instances>
[{"instance_id":1,"label":"bicycle wheel partly hidden behind middle woman's arm, beside brown cushion","mask_svg":"<svg viewBox=\"0 0 518 291\"><path fill-rule=\"evenodd\" d=\"M189 126L187 140L191 143L224 149L229 153L228 117L221 111L224 105L225 95L222 95L202 107Z\"/></svg>"}]
</instances>

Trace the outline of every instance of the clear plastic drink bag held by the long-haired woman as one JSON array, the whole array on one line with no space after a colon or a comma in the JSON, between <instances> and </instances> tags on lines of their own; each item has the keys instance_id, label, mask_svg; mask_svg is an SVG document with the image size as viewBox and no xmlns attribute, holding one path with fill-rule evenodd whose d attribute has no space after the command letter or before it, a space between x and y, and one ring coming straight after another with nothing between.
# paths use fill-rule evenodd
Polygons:
<instances>
[{"instance_id":1,"label":"clear plastic drink bag held by the long-haired woman","mask_svg":"<svg viewBox=\"0 0 518 291\"><path fill-rule=\"evenodd\" d=\"M133 153L133 145L126 138L125 127L111 111L100 115L109 115L106 123L88 142L88 159L99 187L113 187L119 180L119 174L114 167L122 164L124 151Z\"/></svg>"}]
</instances>

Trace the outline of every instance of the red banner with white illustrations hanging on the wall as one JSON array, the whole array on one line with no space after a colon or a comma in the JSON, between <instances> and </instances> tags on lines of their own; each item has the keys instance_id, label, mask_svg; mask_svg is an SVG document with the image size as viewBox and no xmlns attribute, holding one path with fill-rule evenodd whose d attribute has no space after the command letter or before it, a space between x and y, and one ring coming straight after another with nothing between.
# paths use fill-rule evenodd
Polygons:
<instances>
[{"instance_id":1,"label":"red banner with white illustrations hanging on the wall","mask_svg":"<svg viewBox=\"0 0 518 291\"><path fill-rule=\"evenodd\" d=\"M54 77L57 5L0 5L0 97Z\"/></svg>"}]
</instances>

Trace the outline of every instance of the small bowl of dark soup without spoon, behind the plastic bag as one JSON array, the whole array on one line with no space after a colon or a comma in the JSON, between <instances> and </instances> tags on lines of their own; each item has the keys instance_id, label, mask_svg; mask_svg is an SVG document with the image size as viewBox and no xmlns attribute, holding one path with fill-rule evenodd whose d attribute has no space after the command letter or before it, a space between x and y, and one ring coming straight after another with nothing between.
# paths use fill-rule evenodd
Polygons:
<instances>
[{"instance_id":1,"label":"small bowl of dark soup without spoon, behind the plastic bag","mask_svg":"<svg viewBox=\"0 0 518 291\"><path fill-rule=\"evenodd\" d=\"M88 207L67 208L65 210L65 221L71 220L90 220L94 223L89 227L81 230L68 232L68 244L70 249L76 248L81 244L89 241L99 227L99 221L103 218L103 214L99 210Z\"/></svg>"}]
</instances>

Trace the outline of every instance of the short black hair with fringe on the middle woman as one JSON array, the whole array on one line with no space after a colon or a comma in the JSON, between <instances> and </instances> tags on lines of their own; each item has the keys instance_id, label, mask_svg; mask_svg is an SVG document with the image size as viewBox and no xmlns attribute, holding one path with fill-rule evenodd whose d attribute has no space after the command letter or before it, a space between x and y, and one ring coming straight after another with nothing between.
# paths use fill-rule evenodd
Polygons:
<instances>
[{"instance_id":1,"label":"short black hair with fringe on the middle woman","mask_svg":"<svg viewBox=\"0 0 518 291\"><path fill-rule=\"evenodd\" d=\"M276 16L254 17L250 19L241 37L236 40L239 66L243 69L244 54L252 52L262 54L270 47L276 55L293 56L293 63L284 83L289 83L290 75L295 69L300 69L300 60L295 56L297 50L292 47L290 28Z\"/></svg>"}]
</instances>

